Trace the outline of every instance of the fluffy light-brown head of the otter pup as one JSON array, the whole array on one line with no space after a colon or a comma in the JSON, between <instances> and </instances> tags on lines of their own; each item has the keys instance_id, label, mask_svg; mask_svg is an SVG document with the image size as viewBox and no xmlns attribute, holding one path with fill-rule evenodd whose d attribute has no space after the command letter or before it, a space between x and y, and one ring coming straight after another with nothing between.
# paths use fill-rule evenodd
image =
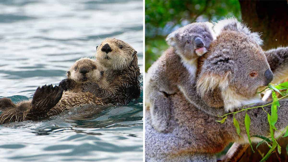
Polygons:
<instances>
[{"instance_id":1,"label":"fluffy light-brown head of the otter pup","mask_svg":"<svg viewBox=\"0 0 288 162\"><path fill-rule=\"evenodd\" d=\"M82 58L67 71L67 78L77 83L98 82L103 77L103 73L103 69L96 61Z\"/></svg>"}]
</instances>

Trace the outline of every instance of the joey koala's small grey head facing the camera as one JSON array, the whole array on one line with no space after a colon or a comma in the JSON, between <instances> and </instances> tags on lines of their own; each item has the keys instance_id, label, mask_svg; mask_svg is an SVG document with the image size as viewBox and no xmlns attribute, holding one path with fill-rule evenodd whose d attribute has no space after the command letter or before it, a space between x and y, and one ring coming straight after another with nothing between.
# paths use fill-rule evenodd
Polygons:
<instances>
[{"instance_id":1,"label":"joey koala's small grey head facing the camera","mask_svg":"<svg viewBox=\"0 0 288 162\"><path fill-rule=\"evenodd\" d=\"M210 22L194 22L169 34L166 41L177 49L183 62L191 63L207 52L214 39L212 27Z\"/></svg>"}]
</instances>

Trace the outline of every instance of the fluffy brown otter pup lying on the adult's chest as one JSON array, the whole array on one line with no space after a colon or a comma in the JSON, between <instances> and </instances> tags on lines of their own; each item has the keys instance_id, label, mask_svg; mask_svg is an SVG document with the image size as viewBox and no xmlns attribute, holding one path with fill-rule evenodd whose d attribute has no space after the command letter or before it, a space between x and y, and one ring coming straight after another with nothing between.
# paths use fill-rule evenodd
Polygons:
<instances>
[{"instance_id":1,"label":"fluffy brown otter pup lying on the adult's chest","mask_svg":"<svg viewBox=\"0 0 288 162\"><path fill-rule=\"evenodd\" d=\"M82 84L86 82L95 82L101 88L109 86L103 67L95 60L83 58L76 61L67 71L67 79L59 84L65 90L62 98L46 116L60 114L63 110L83 104L105 105L100 97L90 92L82 92Z\"/></svg>"}]
</instances>

